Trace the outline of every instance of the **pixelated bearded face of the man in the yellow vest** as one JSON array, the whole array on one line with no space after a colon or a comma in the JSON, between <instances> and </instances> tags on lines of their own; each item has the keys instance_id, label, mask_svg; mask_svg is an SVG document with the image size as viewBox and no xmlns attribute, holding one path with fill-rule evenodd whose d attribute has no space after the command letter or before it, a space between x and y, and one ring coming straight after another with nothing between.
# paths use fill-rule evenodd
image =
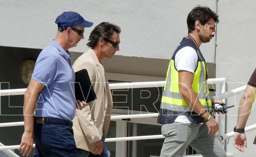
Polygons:
<instances>
[{"instance_id":1,"label":"pixelated bearded face of the man in the yellow vest","mask_svg":"<svg viewBox=\"0 0 256 157\"><path fill-rule=\"evenodd\" d=\"M215 35L215 21L213 18L210 18L205 25L201 25L201 30L199 32L199 39L203 42L210 42L210 40Z\"/></svg>"}]
</instances>

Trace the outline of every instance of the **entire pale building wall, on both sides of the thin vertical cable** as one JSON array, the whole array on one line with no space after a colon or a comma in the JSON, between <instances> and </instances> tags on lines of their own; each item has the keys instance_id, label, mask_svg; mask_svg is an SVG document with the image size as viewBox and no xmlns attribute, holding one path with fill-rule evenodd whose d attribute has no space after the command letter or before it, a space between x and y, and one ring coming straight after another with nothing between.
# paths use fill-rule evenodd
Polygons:
<instances>
[{"instance_id":1,"label":"entire pale building wall, on both sides of the thin vertical cable","mask_svg":"<svg viewBox=\"0 0 256 157\"><path fill-rule=\"evenodd\" d=\"M43 49L55 38L57 15L63 11L77 11L85 20L94 22L85 29L85 39L71 51L86 52L91 30L107 21L121 27L120 52L117 55L169 59L177 44L187 34L186 18L197 4L217 10L216 77L228 79L228 90L247 83L255 69L256 43L255 0L0 0L0 46ZM214 62L215 38L202 44L207 62ZM242 82L242 83L234 83ZM241 95L228 99L238 106ZM236 125L238 108L228 114L228 129ZM256 112L247 123L254 124ZM255 131L247 133L248 148L239 153L233 138L227 152L235 157L253 157Z\"/></svg>"}]
</instances>

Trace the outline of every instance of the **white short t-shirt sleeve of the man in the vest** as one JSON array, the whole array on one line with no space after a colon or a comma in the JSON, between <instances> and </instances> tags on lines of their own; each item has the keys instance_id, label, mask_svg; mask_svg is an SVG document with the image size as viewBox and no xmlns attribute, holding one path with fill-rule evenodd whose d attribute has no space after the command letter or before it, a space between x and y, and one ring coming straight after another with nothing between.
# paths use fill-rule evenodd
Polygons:
<instances>
[{"instance_id":1,"label":"white short t-shirt sleeve of the man in the vest","mask_svg":"<svg viewBox=\"0 0 256 157\"><path fill-rule=\"evenodd\" d=\"M175 55L175 67L178 71L194 73L197 68L197 52L190 46L180 49Z\"/></svg>"}]
</instances>

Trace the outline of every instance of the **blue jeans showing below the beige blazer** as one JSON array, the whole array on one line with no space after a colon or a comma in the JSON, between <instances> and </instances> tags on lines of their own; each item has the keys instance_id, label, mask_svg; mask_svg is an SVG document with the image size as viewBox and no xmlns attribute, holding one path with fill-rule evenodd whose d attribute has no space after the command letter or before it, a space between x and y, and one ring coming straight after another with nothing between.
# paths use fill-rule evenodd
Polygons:
<instances>
[{"instance_id":1,"label":"blue jeans showing below the beige blazer","mask_svg":"<svg viewBox=\"0 0 256 157\"><path fill-rule=\"evenodd\" d=\"M107 155L107 146L105 144L105 139L103 139L103 137L101 138L101 141L103 142L103 150L101 155L94 155L91 152L87 151L87 150L82 150L79 148L76 148L77 153L78 153L78 157L108 157Z\"/></svg>"}]
</instances>

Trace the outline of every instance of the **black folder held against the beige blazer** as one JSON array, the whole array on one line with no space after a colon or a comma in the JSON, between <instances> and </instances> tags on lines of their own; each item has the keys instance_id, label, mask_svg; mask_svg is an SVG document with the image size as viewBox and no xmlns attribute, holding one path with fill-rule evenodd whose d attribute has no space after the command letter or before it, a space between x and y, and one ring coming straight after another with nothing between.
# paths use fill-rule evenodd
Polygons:
<instances>
[{"instance_id":1,"label":"black folder held against the beige blazer","mask_svg":"<svg viewBox=\"0 0 256 157\"><path fill-rule=\"evenodd\" d=\"M75 99L87 103L97 99L86 69L75 73Z\"/></svg>"}]
</instances>

